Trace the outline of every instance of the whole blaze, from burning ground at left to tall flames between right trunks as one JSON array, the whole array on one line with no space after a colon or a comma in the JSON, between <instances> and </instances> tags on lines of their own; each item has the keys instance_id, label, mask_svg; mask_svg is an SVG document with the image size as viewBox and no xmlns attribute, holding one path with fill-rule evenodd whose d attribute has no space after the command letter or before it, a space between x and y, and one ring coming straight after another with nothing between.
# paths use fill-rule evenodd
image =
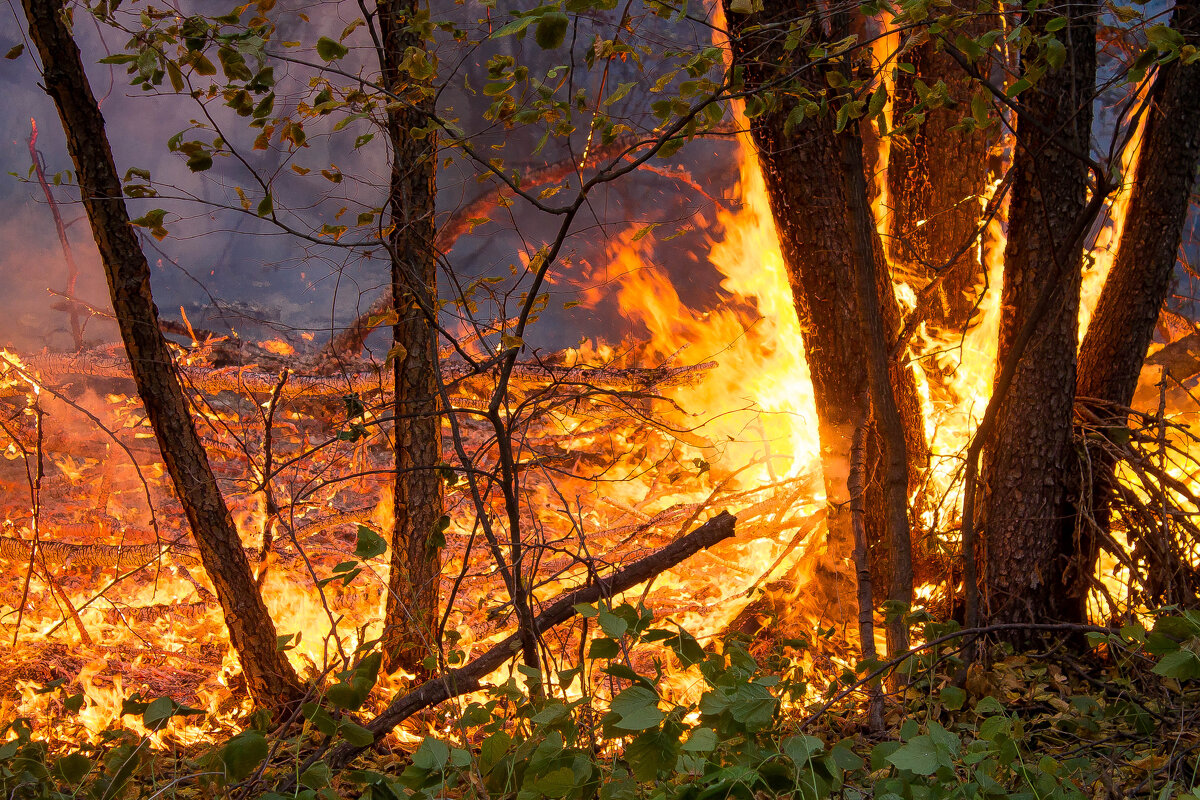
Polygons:
<instances>
[{"instance_id":1,"label":"whole blaze, from burning ground at left to tall flames between right trunks","mask_svg":"<svg viewBox=\"0 0 1200 800\"><path fill-rule=\"evenodd\" d=\"M684 307L630 231L610 258L624 275L622 308L649 343L588 345L560 354L557 366L517 371L520 398L541 398L522 440L523 524L536 553L530 573L540 600L577 585L592 566L628 563L728 509L738 516L736 540L634 594L702 640L736 624L763 590L786 593L787 624L798 633L852 619L852 597L833 609L804 591L823 545L816 415L787 276L750 157L739 200L720 213L724 234L709 253L725 276L719 306L703 313ZM1118 199L1098 252L1116 240L1122 211ZM989 290L976 327L958 342L922 332L918 348L954 369L946 385L922 381L935 452L928 491L941 498L922 522L925 535L946 542L955 535L958 453L990 386L1002 219L992 222L983 248ZM1086 299L1094 301L1094 293ZM289 378L270 437L282 465L270 485L284 512L269 519L260 487L263 401L277 379L257 365L218 368L229 347L196 343L182 355L202 435L289 657L304 674L336 670L379 636L386 561L374 559L352 582L329 578L335 565L353 559L359 524L389 528L390 452L385 437L371 433L370 398L379 397L372 383L378 390L380 378ZM0 718L49 721L77 709L72 724L79 727L65 734L95 740L114 723L142 734L137 715L122 717L124 699L170 696L204 714L152 735L196 741L235 727L248 700L121 357L114 349L79 357L5 353L0 361L8 439L0 555L11 565L0 584L10 637ZM564 379L571 374L613 391L580 392L582 381ZM342 399L352 390L368 407L356 422L361 429L350 425ZM472 379L455 391L455 403L470 407L488 386ZM468 420L462 431L469 451L488 451L481 427ZM1178 459L1171 474L1195 486L1186 463ZM469 501L451 487L448 505L446 630L470 657L503 638L510 620L492 612L506 596L474 546ZM785 572L790 583L780 581ZM919 596L935 589L923 587ZM552 632L551 652L577 636ZM847 663L852 632L842 640L828 656ZM688 690L686 674L668 678L676 691Z\"/></svg>"}]
</instances>

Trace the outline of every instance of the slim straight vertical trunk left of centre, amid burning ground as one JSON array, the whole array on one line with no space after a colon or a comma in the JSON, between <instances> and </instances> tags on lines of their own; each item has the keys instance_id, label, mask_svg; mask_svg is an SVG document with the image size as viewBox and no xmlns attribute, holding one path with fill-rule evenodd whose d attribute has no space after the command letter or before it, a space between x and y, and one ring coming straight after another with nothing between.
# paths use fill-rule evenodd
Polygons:
<instances>
[{"instance_id":1,"label":"slim straight vertical trunk left of centre, amid burning ground","mask_svg":"<svg viewBox=\"0 0 1200 800\"><path fill-rule=\"evenodd\" d=\"M391 572L384 616L384 663L419 676L436 651L438 581L442 572L442 419L438 414L437 251L433 228L436 144L428 125L433 95L404 67L408 48L425 41L412 28L416 0L379 0L380 61L388 89L404 96L388 113L391 186L391 293L396 323L391 357L395 380L396 482Z\"/></svg>"}]
</instances>

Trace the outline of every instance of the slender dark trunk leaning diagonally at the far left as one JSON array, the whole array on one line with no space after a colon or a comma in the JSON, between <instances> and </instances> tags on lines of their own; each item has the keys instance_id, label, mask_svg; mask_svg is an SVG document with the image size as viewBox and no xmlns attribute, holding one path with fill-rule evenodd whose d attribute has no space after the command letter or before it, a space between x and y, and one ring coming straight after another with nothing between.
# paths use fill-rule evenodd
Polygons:
<instances>
[{"instance_id":1,"label":"slender dark trunk leaning diagonally at the far left","mask_svg":"<svg viewBox=\"0 0 1200 800\"><path fill-rule=\"evenodd\" d=\"M200 561L221 601L246 686L259 705L294 703L304 691L287 656L277 649L275 624L254 585L238 529L192 423L170 349L158 331L150 266L130 224L104 118L64 19L66 10L60 0L23 0L22 5L42 59L46 90L66 132L133 380L192 527Z\"/></svg>"}]
</instances>

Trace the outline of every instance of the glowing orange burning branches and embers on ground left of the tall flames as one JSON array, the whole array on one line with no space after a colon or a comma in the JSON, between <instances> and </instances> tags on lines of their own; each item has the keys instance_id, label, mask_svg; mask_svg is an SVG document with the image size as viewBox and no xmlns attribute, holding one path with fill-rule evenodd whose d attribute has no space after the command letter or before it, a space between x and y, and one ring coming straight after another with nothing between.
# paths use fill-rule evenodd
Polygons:
<instances>
[{"instance_id":1,"label":"glowing orange burning branches and embers on ground left of the tall flames","mask_svg":"<svg viewBox=\"0 0 1200 800\"><path fill-rule=\"evenodd\" d=\"M386 573L373 558L350 569L362 537L373 536L364 527L386 531L390 524L378 375L288 375L281 384L254 365L210 366L211 353L200 347L181 354L181 373L246 558L272 614L286 620L281 633L298 668L317 675L348 664L377 630ZM732 619L748 590L779 567L785 551L816 546L815 527L805 523L815 510L811 476L743 483L739 473L754 464L719 464L689 414L661 393L694 385L709 368L518 365L511 414L520 421L522 492L538 499L524 506L522 521L538 603L612 570L626 575L622 565L649 558L714 506L731 506L739 509L739 537L697 557L688 577L658 577L647 597L660 613L718 630L720 618ZM220 608L146 440L144 411L125 393L127 375L103 351L6 356L0 402L10 447L0 480L10 487L10 505L0 559L11 566L0 599L12 609L6 621L14 631L13 663L25 664L8 680L37 663L40 679L65 679L89 697L113 698L119 686L139 686L144 696L169 693L232 720L245 706L227 654L214 646L214 637L222 638ZM490 390L487 374L451 367L444 380L464 409L484 403ZM260 403L271 392L278 407L265 437ZM492 469L486 427L464 415L461 435L475 458L472 468ZM264 475L266 447L274 467ZM38 462L44 475L31 486L23 474ZM511 606L476 545L460 475L457 464L446 464L443 624L458 646L496 652L511 630ZM266 486L277 498L275 513L264 504ZM556 636L556 646L568 646L577 633ZM154 643L145 657L131 656L139 640ZM115 646L126 655L106 657ZM83 669L106 660L107 667ZM184 688L173 669L204 678ZM17 702L36 697L18 700L8 692ZM119 715L112 703L103 710L97 703L97 730Z\"/></svg>"}]
</instances>

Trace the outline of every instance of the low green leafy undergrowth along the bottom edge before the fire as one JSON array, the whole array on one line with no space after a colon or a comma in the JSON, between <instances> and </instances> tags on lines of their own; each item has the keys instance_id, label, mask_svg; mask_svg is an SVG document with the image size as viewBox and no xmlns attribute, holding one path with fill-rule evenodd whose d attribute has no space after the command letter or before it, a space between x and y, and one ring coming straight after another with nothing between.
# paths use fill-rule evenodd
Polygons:
<instances>
[{"instance_id":1,"label":"low green leafy undergrowth along the bottom edge before the fire","mask_svg":"<svg viewBox=\"0 0 1200 800\"><path fill-rule=\"evenodd\" d=\"M322 757L371 741L356 715L378 674L367 646L295 724L271 729L258 714L224 741L163 750L173 721L196 714L169 698L126 703L161 732L154 747L118 727L79 745L54 738L58 722L14 720L0 788L30 800L1200 798L1196 612L1038 652L995 645L970 666L965 634L924 621L924 640L941 644L846 669L815 692L799 667L812 643L756 643L751 655L736 637L702 648L644 608L578 610L599 628L580 666L547 685L518 668L448 704L439 734L409 752L376 745L343 770ZM694 702L665 691L667 670L696 681ZM864 722L872 675L892 690L875 732ZM67 685L46 691L64 693L67 714L86 703Z\"/></svg>"}]
</instances>

